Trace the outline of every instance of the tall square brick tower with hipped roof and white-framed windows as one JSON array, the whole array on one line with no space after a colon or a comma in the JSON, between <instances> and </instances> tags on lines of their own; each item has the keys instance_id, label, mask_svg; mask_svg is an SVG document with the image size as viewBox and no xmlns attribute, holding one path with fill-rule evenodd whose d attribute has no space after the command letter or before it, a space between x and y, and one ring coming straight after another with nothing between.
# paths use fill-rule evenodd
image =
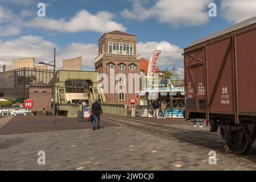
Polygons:
<instances>
[{"instance_id":1,"label":"tall square brick tower with hipped roof and white-framed windows","mask_svg":"<svg viewBox=\"0 0 256 182\"><path fill-rule=\"evenodd\" d=\"M140 74L140 59L136 55L136 36L121 31L104 34L99 39L99 56L95 59L95 71L107 73L108 92L105 97L108 104L124 104L131 107L139 105L139 99L131 104L131 98L136 98L135 79L129 79L128 74ZM110 77L115 71L115 78ZM123 76L117 74L123 73ZM128 80L133 80L133 92L128 92ZM111 84L126 92L111 93ZM104 85L104 87L107 85ZM137 97L139 98L139 97Z\"/></svg>"}]
</instances>

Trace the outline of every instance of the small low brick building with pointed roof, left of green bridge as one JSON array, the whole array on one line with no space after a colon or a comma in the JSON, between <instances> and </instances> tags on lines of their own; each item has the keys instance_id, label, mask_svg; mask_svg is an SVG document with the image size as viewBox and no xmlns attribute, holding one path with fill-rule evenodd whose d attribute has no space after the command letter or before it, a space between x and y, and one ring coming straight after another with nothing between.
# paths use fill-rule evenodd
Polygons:
<instances>
[{"instance_id":1,"label":"small low brick building with pointed roof, left of green bridge","mask_svg":"<svg viewBox=\"0 0 256 182\"><path fill-rule=\"evenodd\" d=\"M51 111L52 86L39 81L29 88L29 98L33 101L32 112Z\"/></svg>"}]
</instances>

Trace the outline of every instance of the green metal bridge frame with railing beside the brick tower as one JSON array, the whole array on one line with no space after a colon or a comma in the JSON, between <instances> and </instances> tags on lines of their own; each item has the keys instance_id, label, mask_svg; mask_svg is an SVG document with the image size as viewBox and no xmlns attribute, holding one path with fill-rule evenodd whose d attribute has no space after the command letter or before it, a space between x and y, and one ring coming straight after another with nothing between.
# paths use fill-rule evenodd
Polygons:
<instances>
[{"instance_id":1,"label":"green metal bridge frame with railing beside the brick tower","mask_svg":"<svg viewBox=\"0 0 256 182\"><path fill-rule=\"evenodd\" d=\"M78 111L82 110L81 105L68 104L66 99L66 81L67 80L86 80L88 89L84 94L87 94L89 105L95 102L96 99L101 103L103 113L117 114L127 116L127 105L112 105L107 104L102 86L97 80L98 72L93 71L63 71L56 73L55 84L55 102L58 111L63 111L67 117L78 117Z\"/></svg>"}]
</instances>

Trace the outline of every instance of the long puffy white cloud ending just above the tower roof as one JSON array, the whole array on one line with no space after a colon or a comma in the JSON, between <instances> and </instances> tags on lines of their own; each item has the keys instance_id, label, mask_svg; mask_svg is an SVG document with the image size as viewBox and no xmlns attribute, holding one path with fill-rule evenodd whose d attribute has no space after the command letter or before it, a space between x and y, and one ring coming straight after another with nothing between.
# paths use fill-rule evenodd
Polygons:
<instances>
[{"instance_id":1,"label":"long puffy white cloud ending just above the tower roof","mask_svg":"<svg viewBox=\"0 0 256 182\"><path fill-rule=\"evenodd\" d=\"M127 28L121 23L114 22L114 15L106 11L99 11L96 15L90 14L87 10L79 11L74 18L65 19L39 18L25 22L23 26L32 28L44 28L58 32L108 32L113 30L126 31Z\"/></svg>"}]
</instances>

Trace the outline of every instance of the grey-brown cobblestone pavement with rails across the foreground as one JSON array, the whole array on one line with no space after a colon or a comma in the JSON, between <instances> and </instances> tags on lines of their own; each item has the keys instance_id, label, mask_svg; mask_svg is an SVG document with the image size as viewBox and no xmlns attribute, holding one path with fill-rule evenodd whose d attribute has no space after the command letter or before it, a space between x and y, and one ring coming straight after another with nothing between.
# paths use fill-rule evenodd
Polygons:
<instances>
[{"instance_id":1,"label":"grey-brown cobblestone pavement with rails across the foreground","mask_svg":"<svg viewBox=\"0 0 256 182\"><path fill-rule=\"evenodd\" d=\"M209 127L172 119L125 118L104 114L113 125L100 130L64 130L0 136L1 170L255 170L256 148L247 156L224 150ZM176 120L177 121L177 120ZM169 123L168 123L169 122ZM164 123L164 124L163 124ZM209 165L209 151L217 165ZM37 163L46 152L46 165Z\"/></svg>"}]
</instances>

